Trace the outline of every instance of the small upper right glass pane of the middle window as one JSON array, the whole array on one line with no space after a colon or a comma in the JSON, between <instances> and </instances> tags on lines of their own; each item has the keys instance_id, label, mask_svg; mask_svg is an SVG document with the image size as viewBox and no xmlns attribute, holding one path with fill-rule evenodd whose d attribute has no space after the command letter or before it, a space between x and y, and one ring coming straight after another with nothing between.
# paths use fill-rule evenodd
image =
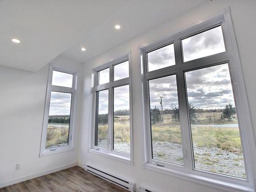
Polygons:
<instances>
[{"instance_id":1,"label":"small upper right glass pane of the middle window","mask_svg":"<svg viewBox=\"0 0 256 192\"><path fill-rule=\"evenodd\" d=\"M129 77L129 61L114 66L114 81Z\"/></svg>"}]
</instances>

